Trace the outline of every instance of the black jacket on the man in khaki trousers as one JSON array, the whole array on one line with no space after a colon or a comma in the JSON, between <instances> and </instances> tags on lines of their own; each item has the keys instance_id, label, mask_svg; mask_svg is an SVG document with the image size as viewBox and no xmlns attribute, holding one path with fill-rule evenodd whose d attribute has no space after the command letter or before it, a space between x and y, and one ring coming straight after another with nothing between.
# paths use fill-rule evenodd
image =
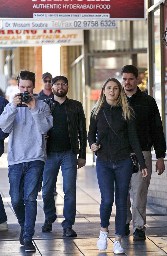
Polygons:
<instances>
[{"instance_id":1,"label":"black jacket on the man in khaki trousers","mask_svg":"<svg viewBox=\"0 0 167 256\"><path fill-rule=\"evenodd\" d=\"M156 101L143 93L137 86L137 92L127 98L135 112L137 134L142 151L154 147L156 158L165 157L166 142L161 116Z\"/></svg>"}]
</instances>

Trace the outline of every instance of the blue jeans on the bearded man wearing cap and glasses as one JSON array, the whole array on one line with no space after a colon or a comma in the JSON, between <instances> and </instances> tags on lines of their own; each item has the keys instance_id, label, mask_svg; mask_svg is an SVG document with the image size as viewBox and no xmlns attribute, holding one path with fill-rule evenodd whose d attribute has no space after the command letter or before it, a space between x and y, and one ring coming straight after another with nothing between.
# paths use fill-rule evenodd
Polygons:
<instances>
[{"instance_id":1,"label":"blue jeans on the bearded man wearing cap and glasses","mask_svg":"<svg viewBox=\"0 0 167 256\"><path fill-rule=\"evenodd\" d=\"M63 176L63 216L65 218L61 225L63 228L67 228L72 227L76 215L77 155L72 154L71 150L59 153L50 152L47 155L43 171L43 210L46 220L54 221L57 218L53 191L60 166Z\"/></svg>"}]
</instances>

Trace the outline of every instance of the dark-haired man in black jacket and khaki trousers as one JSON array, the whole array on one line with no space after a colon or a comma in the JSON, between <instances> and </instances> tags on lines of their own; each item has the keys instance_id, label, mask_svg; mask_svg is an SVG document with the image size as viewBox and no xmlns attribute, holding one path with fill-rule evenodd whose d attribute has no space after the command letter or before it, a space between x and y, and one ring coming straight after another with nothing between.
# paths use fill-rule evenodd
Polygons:
<instances>
[{"instance_id":1,"label":"dark-haired man in black jacket and khaki trousers","mask_svg":"<svg viewBox=\"0 0 167 256\"><path fill-rule=\"evenodd\" d=\"M150 185L152 172L151 148L154 146L156 153L156 172L161 175L165 170L164 160L166 143L163 133L160 113L154 98L143 93L138 87L138 70L133 65L126 65L121 71L124 91L128 102L134 109L137 133L140 140L148 176L141 179L142 173L134 173L129 189L132 189L133 203L130 210L130 195L127 198L127 221L124 235L129 235L129 223L133 220L133 240L145 240L146 203L147 191Z\"/></svg>"}]
</instances>

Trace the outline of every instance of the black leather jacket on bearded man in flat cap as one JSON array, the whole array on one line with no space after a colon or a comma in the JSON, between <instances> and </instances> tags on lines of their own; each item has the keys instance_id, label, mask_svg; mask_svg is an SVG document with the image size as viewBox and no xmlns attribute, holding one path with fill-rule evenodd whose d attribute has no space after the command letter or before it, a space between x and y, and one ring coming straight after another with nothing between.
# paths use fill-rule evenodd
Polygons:
<instances>
[{"instance_id":1,"label":"black leather jacket on bearded man in flat cap","mask_svg":"<svg viewBox=\"0 0 167 256\"><path fill-rule=\"evenodd\" d=\"M53 101L53 97L51 99L45 99L42 101L49 105L50 113L52 114L56 104L56 102ZM72 154L79 154L78 158L86 159L87 131L86 119L82 104L77 100L67 98L65 109L67 113L68 131Z\"/></svg>"}]
</instances>

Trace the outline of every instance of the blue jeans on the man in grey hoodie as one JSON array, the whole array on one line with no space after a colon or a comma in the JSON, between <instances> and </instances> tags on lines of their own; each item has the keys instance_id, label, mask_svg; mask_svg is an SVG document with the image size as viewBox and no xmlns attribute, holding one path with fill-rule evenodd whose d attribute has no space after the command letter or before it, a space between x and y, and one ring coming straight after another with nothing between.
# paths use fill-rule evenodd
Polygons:
<instances>
[{"instance_id":1,"label":"blue jeans on the man in grey hoodie","mask_svg":"<svg viewBox=\"0 0 167 256\"><path fill-rule=\"evenodd\" d=\"M23 241L32 241L37 213L36 198L44 168L40 160L9 165L10 196L23 232Z\"/></svg>"}]
</instances>

